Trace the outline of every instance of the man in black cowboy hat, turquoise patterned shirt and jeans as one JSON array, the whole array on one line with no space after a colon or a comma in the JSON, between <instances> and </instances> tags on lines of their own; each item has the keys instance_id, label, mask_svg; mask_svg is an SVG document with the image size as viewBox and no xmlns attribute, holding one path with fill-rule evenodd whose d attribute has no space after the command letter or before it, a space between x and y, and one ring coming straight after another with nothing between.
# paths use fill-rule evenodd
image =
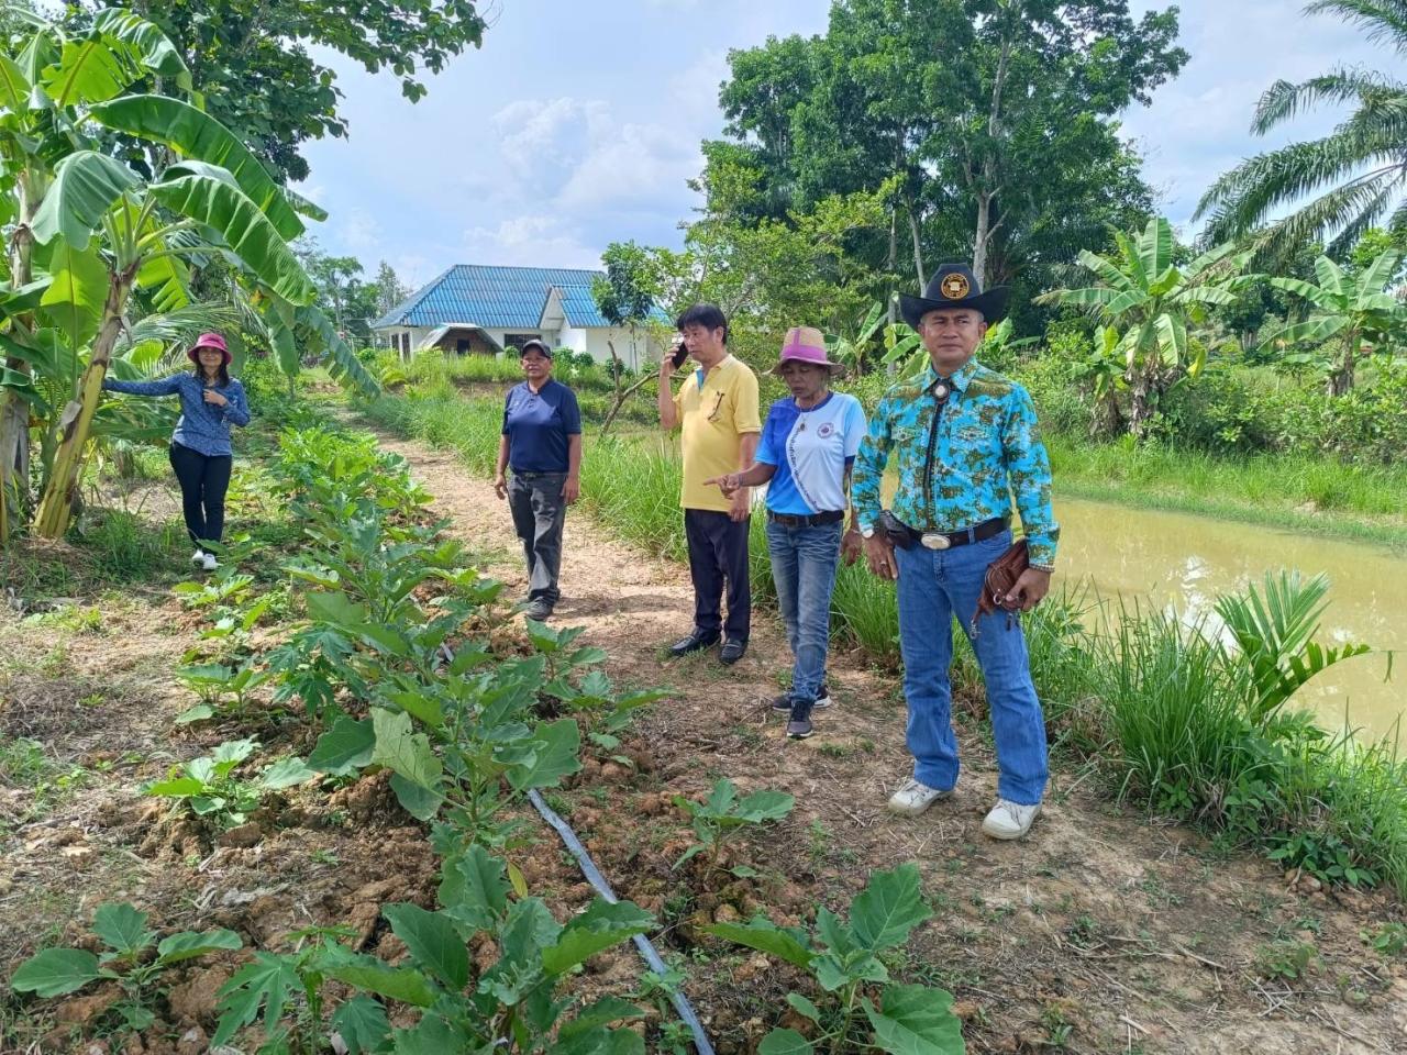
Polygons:
<instances>
[{"instance_id":1,"label":"man in black cowboy hat, turquoise patterned shirt and jeans","mask_svg":"<svg viewBox=\"0 0 1407 1055\"><path fill-rule=\"evenodd\" d=\"M953 736L953 618L982 665L999 768L996 806L982 821L993 838L1020 838L1045 792L1045 720L1031 684L1020 620L978 615L988 565L1012 544L1012 499L1021 515L1030 568L1003 601L1030 610L1050 589L1059 529L1051 471L1031 397L972 356L1009 291L982 291L972 269L943 264L923 297L900 297L905 321L929 352L923 374L892 387L870 419L855 459L851 504L871 571L898 581L903 692L913 778L889 799L905 816L951 795L958 778ZM879 482L899 484L881 509Z\"/></svg>"}]
</instances>

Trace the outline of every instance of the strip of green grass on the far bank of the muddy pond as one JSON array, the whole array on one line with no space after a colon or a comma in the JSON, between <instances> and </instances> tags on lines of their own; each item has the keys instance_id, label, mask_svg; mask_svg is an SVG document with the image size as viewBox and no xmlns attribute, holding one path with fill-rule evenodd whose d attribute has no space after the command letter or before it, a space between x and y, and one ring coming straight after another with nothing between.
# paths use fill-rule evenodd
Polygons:
<instances>
[{"instance_id":1,"label":"strip of green grass on the far bank of the muddy pond","mask_svg":"<svg viewBox=\"0 0 1407 1055\"><path fill-rule=\"evenodd\" d=\"M1061 494L1407 547L1407 468L1083 443L1047 435Z\"/></svg>"}]
</instances>

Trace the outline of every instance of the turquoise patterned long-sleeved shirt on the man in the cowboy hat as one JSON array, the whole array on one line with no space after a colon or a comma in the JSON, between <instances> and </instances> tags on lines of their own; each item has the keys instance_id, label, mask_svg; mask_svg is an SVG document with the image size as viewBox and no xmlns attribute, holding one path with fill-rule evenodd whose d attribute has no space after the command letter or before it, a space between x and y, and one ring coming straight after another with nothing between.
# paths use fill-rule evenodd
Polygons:
<instances>
[{"instance_id":1,"label":"turquoise patterned long-sleeved shirt on the man in the cowboy hat","mask_svg":"<svg viewBox=\"0 0 1407 1055\"><path fill-rule=\"evenodd\" d=\"M938 419L933 482L924 495L929 430L937 409L930 366L893 385L870 418L855 457L851 502L861 528L879 520L879 487L891 457L898 470L893 515L917 530L957 532L995 516L1021 515L1031 564L1051 567L1059 526L1051 509L1051 466L1027 391L969 360L948 380Z\"/></svg>"}]
</instances>

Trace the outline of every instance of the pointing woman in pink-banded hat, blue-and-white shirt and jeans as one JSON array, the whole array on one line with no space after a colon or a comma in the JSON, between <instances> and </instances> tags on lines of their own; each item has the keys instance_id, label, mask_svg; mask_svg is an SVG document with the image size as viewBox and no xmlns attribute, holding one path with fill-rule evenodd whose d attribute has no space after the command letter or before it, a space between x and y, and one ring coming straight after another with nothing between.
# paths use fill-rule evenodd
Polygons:
<instances>
[{"instance_id":1,"label":"pointing woman in pink-banded hat, blue-and-white shirt and jeans","mask_svg":"<svg viewBox=\"0 0 1407 1055\"><path fill-rule=\"evenodd\" d=\"M774 699L772 710L788 715L787 736L794 740L812 734L812 710L830 706L830 594L840 563L850 466L865 435L860 401L830 391L830 380L843 370L827 357L819 329L787 331L772 373L792 394L768 409L753 464L706 481L723 494L767 484L767 550L795 660L791 692Z\"/></svg>"}]
</instances>

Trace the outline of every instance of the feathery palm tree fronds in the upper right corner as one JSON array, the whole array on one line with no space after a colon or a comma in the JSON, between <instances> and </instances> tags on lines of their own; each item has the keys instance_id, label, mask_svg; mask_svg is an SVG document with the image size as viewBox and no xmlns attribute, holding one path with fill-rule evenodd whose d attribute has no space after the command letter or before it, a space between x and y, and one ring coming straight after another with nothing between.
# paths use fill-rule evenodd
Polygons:
<instances>
[{"instance_id":1,"label":"feathery palm tree fronds in the upper right corner","mask_svg":"<svg viewBox=\"0 0 1407 1055\"><path fill-rule=\"evenodd\" d=\"M1368 39L1407 53L1407 0L1314 0L1304 13L1335 14L1361 25ZM1282 257L1324 241L1338 255L1389 212L1393 229L1407 228L1407 83L1348 68L1301 84L1278 80L1261 96L1251 131L1265 135L1321 103L1356 108L1324 138L1251 158L1211 184L1196 214L1209 217L1209 243L1245 236L1275 211L1313 194L1297 211L1256 231L1254 243Z\"/></svg>"}]
</instances>

